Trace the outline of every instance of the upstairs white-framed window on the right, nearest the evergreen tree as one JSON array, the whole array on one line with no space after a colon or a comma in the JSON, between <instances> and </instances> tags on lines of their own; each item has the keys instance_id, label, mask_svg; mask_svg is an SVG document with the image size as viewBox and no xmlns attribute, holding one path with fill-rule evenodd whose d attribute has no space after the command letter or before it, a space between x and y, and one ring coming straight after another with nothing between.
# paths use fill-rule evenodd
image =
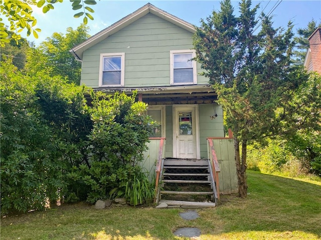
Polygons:
<instances>
[{"instance_id":1,"label":"upstairs white-framed window on the right, nearest the evergreen tree","mask_svg":"<svg viewBox=\"0 0 321 240\"><path fill-rule=\"evenodd\" d=\"M172 50L171 52L171 84L196 84L196 62L194 50Z\"/></svg>"}]
</instances>

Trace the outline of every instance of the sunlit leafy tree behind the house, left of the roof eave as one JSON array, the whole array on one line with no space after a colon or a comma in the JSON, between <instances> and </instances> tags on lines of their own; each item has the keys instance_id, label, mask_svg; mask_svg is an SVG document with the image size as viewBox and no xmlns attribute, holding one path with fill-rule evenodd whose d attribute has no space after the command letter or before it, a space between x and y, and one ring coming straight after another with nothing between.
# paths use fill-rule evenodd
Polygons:
<instances>
[{"instance_id":1,"label":"sunlit leafy tree behind the house, left of the roof eave","mask_svg":"<svg viewBox=\"0 0 321 240\"><path fill-rule=\"evenodd\" d=\"M33 75L39 71L50 76L60 75L79 85L81 63L69 50L89 37L88 30L88 26L81 24L77 29L68 27L65 34L53 33L39 47L28 51L26 70Z\"/></svg>"}]
</instances>

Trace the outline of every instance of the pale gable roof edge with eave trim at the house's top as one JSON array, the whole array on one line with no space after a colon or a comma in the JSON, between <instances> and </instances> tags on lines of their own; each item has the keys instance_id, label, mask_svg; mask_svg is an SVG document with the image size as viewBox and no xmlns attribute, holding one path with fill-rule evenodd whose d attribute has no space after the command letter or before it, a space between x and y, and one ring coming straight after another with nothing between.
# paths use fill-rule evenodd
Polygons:
<instances>
[{"instance_id":1,"label":"pale gable roof edge with eave trim at the house's top","mask_svg":"<svg viewBox=\"0 0 321 240\"><path fill-rule=\"evenodd\" d=\"M83 41L82 43L74 46L69 50L76 59L82 60L83 52L88 49L89 47L95 45L96 43L100 42L101 40L105 39L106 37L110 36L111 34L114 34L115 32L119 31L120 29L124 28L125 26L128 26L132 22L136 21L137 19L143 17L147 13L152 13L158 17L161 17L165 20L168 20L175 25L178 25L192 33L195 32L195 27L183 19L174 16L158 7L155 7L154 5L147 3L134 11L133 13L123 17L119 21L115 22L114 24L108 26L107 28L101 30L100 32L96 33L95 35L89 37L87 40Z\"/></svg>"}]
</instances>

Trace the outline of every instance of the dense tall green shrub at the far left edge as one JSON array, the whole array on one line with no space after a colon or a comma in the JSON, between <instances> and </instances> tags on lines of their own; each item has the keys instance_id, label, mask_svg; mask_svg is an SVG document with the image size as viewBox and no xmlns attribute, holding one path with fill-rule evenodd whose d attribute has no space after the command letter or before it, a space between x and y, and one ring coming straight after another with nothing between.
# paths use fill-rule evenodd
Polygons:
<instances>
[{"instance_id":1,"label":"dense tall green shrub at the far left edge","mask_svg":"<svg viewBox=\"0 0 321 240\"><path fill-rule=\"evenodd\" d=\"M50 174L60 170L51 158L52 132L38 111L34 81L11 62L0 72L1 211L41 209L63 186L59 171Z\"/></svg>"}]
</instances>

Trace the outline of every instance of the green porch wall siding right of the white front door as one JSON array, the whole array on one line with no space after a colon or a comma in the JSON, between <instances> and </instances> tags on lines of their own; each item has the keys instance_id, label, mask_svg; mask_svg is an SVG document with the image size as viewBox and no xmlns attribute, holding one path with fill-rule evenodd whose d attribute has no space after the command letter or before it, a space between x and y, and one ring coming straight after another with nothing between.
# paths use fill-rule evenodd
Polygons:
<instances>
[{"instance_id":1,"label":"green porch wall siding right of the white front door","mask_svg":"<svg viewBox=\"0 0 321 240\"><path fill-rule=\"evenodd\" d=\"M199 126L200 126L200 150L201 158L207 158L207 137L224 137L223 110L215 103L217 117L211 119L214 114L213 104L199 104Z\"/></svg>"}]
</instances>

